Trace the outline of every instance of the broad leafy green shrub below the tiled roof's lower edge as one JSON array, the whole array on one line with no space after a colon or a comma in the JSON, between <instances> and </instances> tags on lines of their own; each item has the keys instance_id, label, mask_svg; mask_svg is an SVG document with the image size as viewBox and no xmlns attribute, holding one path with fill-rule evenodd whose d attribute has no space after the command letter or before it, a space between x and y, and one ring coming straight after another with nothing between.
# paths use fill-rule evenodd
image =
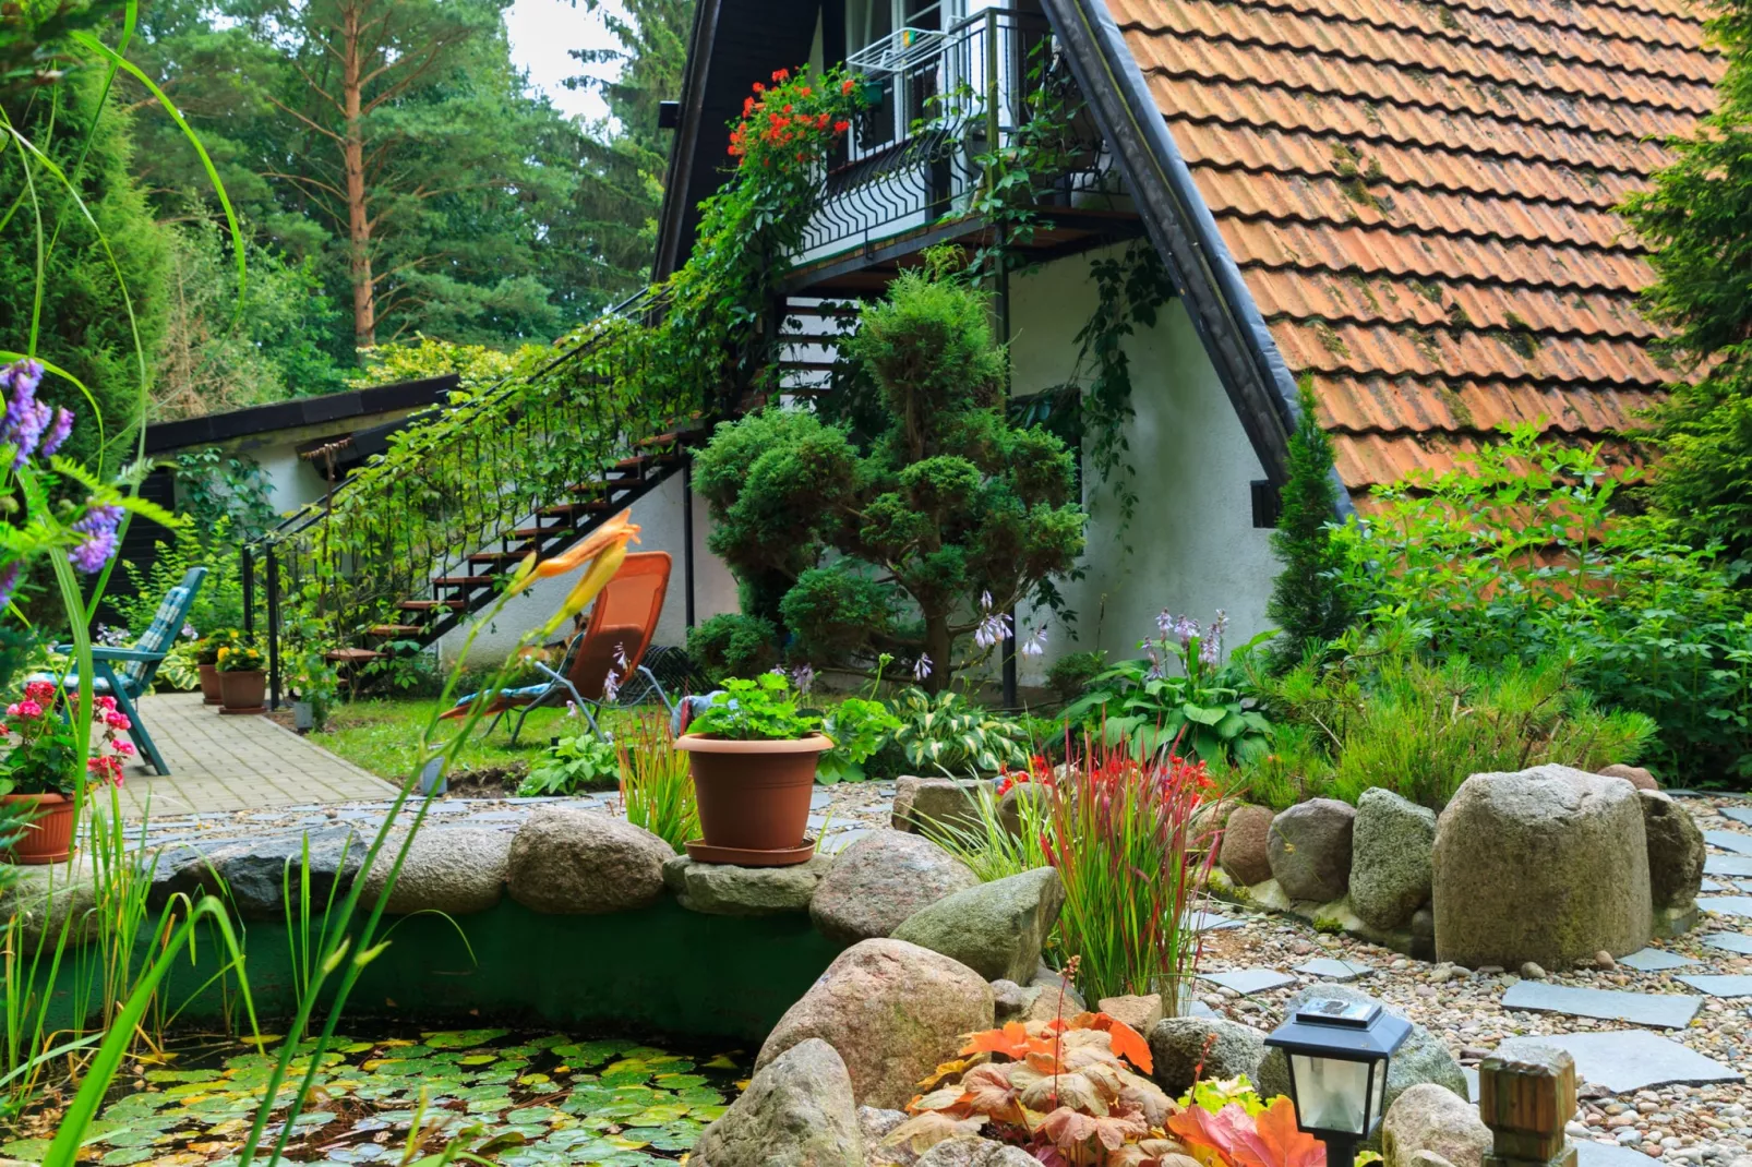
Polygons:
<instances>
[{"instance_id":1,"label":"broad leafy green shrub below the tiled roof's lower edge","mask_svg":"<svg viewBox=\"0 0 1752 1167\"><path fill-rule=\"evenodd\" d=\"M1384 492L1340 541L1372 617L1410 620L1438 659L1565 662L1566 682L1659 727L1649 755L1684 785L1752 778L1752 594L1712 548L1624 515L1594 449L1531 426Z\"/></svg>"}]
</instances>

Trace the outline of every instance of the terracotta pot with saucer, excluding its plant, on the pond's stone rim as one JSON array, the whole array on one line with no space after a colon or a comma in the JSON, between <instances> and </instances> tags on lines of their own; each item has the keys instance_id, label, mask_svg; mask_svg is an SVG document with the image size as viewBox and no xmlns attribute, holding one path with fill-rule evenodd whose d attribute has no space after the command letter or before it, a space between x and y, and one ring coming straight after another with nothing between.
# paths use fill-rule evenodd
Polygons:
<instances>
[{"instance_id":1,"label":"terracotta pot with saucer, excluding its plant, on the pond's stone rim","mask_svg":"<svg viewBox=\"0 0 1752 1167\"><path fill-rule=\"evenodd\" d=\"M809 796L815 764L834 748L825 734L787 741L727 741L682 734L676 750L689 752L699 829L704 834L694 859L780 867L808 862Z\"/></svg>"}]
</instances>

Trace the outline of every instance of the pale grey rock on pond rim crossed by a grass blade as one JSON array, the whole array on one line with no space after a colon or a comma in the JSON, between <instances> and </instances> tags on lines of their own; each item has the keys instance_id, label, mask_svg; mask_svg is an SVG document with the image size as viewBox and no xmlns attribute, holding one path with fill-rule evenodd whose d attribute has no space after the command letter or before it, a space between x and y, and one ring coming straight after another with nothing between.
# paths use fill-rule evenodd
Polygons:
<instances>
[{"instance_id":1,"label":"pale grey rock on pond rim crossed by a grass blade","mask_svg":"<svg viewBox=\"0 0 1752 1167\"><path fill-rule=\"evenodd\" d=\"M385 839L377 862L364 873L361 902L377 902L405 838L403 832ZM505 831L422 825L396 874L385 911L443 911L452 916L487 911L505 895L510 857L512 836Z\"/></svg>"}]
</instances>

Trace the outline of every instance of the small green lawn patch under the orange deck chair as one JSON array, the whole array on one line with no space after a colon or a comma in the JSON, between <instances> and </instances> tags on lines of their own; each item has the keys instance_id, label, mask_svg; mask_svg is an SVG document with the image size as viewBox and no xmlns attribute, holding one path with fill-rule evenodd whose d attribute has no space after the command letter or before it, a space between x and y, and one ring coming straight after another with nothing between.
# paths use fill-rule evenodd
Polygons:
<instances>
[{"instance_id":1,"label":"small green lawn patch under the orange deck chair","mask_svg":"<svg viewBox=\"0 0 1752 1167\"><path fill-rule=\"evenodd\" d=\"M338 704L329 715L328 729L310 734L310 741L324 750L333 750L354 766L363 766L373 774L392 782L406 778L413 771L413 753L420 729L438 710L438 701L417 699L370 699ZM641 711L659 711L661 706L646 706ZM601 720L603 729L613 732L618 724L632 717L627 710L608 710ZM585 731L583 718L566 717L566 710L541 708L529 715L517 745L512 741L510 717L487 736L492 718L484 718L473 738L457 757L456 771L505 767L515 762L529 764L547 748L548 739L562 734ZM456 724L447 722L445 732L456 732Z\"/></svg>"}]
</instances>

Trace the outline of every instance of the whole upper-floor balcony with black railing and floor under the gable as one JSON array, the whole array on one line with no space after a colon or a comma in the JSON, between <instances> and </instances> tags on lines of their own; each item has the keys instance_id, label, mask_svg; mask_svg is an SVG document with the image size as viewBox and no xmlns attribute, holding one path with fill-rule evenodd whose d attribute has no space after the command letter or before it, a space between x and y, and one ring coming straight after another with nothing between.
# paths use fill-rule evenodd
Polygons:
<instances>
[{"instance_id":1,"label":"whole upper-floor balcony with black railing and floor under the gable","mask_svg":"<svg viewBox=\"0 0 1752 1167\"><path fill-rule=\"evenodd\" d=\"M874 291L906 254L990 244L988 161L1018 145L1030 123L1039 137L1044 110L1069 117L1051 133L1053 172L1030 175L1025 198L1042 223L1027 251L1049 258L1139 233L1113 154L1042 18L985 9L948 30L901 28L853 53L846 68L872 100L823 177L794 259L794 293Z\"/></svg>"}]
</instances>

